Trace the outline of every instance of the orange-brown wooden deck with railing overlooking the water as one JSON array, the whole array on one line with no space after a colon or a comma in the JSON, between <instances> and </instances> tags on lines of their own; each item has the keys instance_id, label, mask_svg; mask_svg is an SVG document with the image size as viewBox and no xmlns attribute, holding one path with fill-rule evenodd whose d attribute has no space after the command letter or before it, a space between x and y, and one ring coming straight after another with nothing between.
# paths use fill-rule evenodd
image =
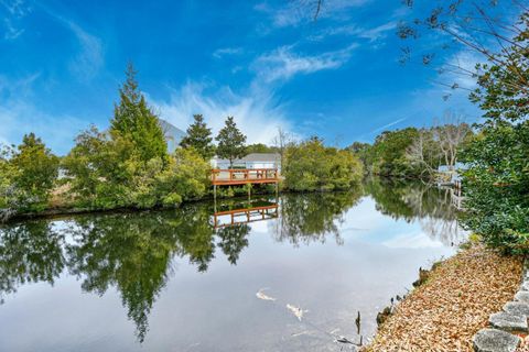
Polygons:
<instances>
[{"instance_id":1,"label":"orange-brown wooden deck with railing overlooking the water","mask_svg":"<svg viewBox=\"0 0 529 352\"><path fill-rule=\"evenodd\" d=\"M277 168L212 169L214 186L277 183L279 183Z\"/></svg>"}]
</instances>

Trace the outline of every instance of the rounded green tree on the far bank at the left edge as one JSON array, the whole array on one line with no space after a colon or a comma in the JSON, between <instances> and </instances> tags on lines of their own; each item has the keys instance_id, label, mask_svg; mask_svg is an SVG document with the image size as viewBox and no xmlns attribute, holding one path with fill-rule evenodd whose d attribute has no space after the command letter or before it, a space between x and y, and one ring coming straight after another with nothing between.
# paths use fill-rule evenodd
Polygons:
<instances>
[{"instance_id":1,"label":"rounded green tree on the far bank at the left edge","mask_svg":"<svg viewBox=\"0 0 529 352\"><path fill-rule=\"evenodd\" d=\"M0 157L0 207L39 211L47 206L58 175L58 157L33 133L17 150L4 148ZM6 174L3 174L6 173Z\"/></svg>"}]
</instances>

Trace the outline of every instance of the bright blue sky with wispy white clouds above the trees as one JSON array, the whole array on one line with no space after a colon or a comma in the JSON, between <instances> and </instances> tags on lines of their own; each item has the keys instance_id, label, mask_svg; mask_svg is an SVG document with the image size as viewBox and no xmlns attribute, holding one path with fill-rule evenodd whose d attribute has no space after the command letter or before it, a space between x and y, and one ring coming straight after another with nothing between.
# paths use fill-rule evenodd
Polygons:
<instances>
[{"instance_id":1,"label":"bright blue sky with wispy white clouds above the trees","mask_svg":"<svg viewBox=\"0 0 529 352\"><path fill-rule=\"evenodd\" d=\"M398 63L400 1L327 0L312 14L309 0L0 0L0 142L33 131L67 153L90 123L108 127L128 61L161 118L185 130L203 113L218 131L233 114L249 142L282 127L345 146L447 110L479 116L465 91L443 100L434 81L453 77Z\"/></svg>"}]
</instances>

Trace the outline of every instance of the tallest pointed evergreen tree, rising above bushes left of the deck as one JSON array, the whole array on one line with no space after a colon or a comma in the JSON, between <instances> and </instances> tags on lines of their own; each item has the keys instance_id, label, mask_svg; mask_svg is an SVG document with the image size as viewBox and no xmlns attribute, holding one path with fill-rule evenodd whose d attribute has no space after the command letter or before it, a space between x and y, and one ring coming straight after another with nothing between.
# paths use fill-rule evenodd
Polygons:
<instances>
[{"instance_id":1,"label":"tallest pointed evergreen tree, rising above bushes left of the deck","mask_svg":"<svg viewBox=\"0 0 529 352\"><path fill-rule=\"evenodd\" d=\"M128 65L126 75L127 80L119 89L119 105L114 109L110 131L130 140L143 162L153 157L165 161L168 146L162 128L138 88L132 64Z\"/></svg>"}]
</instances>

